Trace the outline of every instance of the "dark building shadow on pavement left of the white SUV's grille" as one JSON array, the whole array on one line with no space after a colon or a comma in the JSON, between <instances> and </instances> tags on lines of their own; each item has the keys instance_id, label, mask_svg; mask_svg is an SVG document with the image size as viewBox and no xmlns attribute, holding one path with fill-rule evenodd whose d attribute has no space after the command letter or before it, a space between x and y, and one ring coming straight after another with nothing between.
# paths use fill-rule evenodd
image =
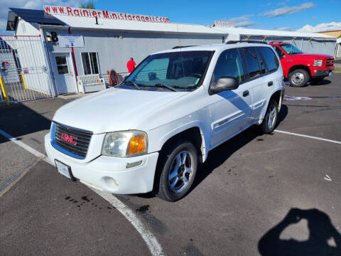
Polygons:
<instances>
[{"instance_id":1,"label":"dark building shadow on pavement left of the white SUV's grille","mask_svg":"<svg viewBox=\"0 0 341 256\"><path fill-rule=\"evenodd\" d=\"M0 129L13 137L50 129L51 121L42 114L21 103L11 107L0 107ZM5 141L0 139L0 143Z\"/></svg>"}]
</instances>

